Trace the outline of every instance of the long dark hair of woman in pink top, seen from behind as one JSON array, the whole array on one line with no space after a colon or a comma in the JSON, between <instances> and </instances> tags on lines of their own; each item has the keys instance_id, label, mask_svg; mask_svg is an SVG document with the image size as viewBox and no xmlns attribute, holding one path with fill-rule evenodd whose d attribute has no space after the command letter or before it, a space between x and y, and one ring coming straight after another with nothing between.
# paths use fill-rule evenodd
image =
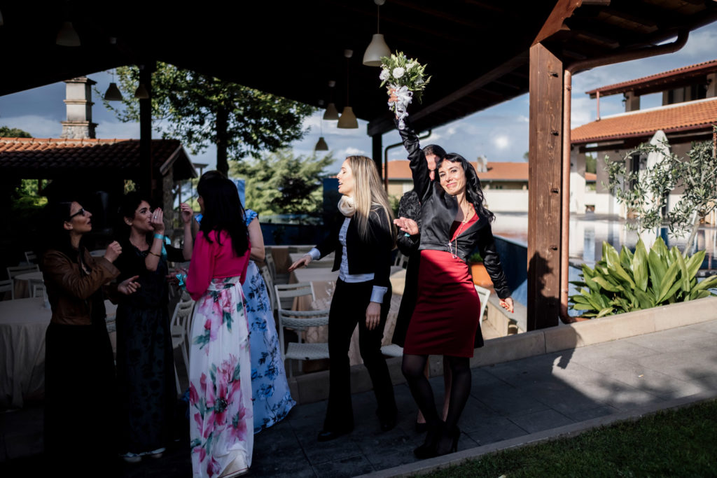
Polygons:
<instances>
[{"instance_id":1,"label":"long dark hair of woman in pink top, seen from behind","mask_svg":"<svg viewBox=\"0 0 717 478\"><path fill-rule=\"evenodd\" d=\"M204 232L206 240L212 242L209 232L215 231L219 242L219 233L227 231L237 257L246 254L249 249L249 230L244 223L244 207L239 200L237 186L223 175L202 176L196 192L204 201L204 216L199 231Z\"/></svg>"}]
</instances>

